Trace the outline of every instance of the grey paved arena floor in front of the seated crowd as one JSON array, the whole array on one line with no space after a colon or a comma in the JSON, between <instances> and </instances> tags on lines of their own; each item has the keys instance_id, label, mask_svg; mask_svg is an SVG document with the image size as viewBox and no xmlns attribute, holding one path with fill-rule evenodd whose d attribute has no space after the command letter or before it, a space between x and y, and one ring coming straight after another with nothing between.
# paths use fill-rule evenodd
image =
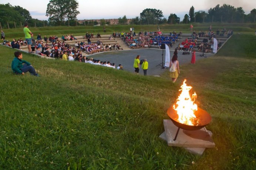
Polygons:
<instances>
[{"instance_id":1,"label":"grey paved arena floor in front of the seated crowd","mask_svg":"<svg viewBox=\"0 0 256 170\"><path fill-rule=\"evenodd\" d=\"M170 49L170 60L172 59L174 50ZM192 53L190 55L182 55L183 51L178 51L178 60L180 65L190 63ZM202 53L196 53L196 60L207 59L200 57L199 55ZM119 64L122 64L124 70L129 72L134 72L133 62L134 58L137 55L140 55L140 59L147 59L149 62L149 69L147 70L147 75L161 75L167 69L162 69L161 66L156 66L162 63L162 49L133 49L133 50L120 50L120 51L111 51L111 52L103 52L96 53L94 55L88 56L88 58L99 59L101 61L110 61L111 63L115 63L116 67ZM207 57L213 56L213 54L207 53ZM165 62L165 49L163 50L163 62ZM143 75L143 70L140 65L139 74Z\"/></svg>"}]
</instances>

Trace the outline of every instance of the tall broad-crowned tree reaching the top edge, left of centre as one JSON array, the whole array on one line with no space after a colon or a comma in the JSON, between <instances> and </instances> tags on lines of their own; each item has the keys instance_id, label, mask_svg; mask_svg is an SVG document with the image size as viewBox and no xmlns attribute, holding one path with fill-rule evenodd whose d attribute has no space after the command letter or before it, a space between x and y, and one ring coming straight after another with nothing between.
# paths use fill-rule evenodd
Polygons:
<instances>
[{"instance_id":1,"label":"tall broad-crowned tree reaching the top edge, left of centre","mask_svg":"<svg viewBox=\"0 0 256 170\"><path fill-rule=\"evenodd\" d=\"M76 0L50 0L47 4L46 16L49 22L61 25L66 20L76 20L80 14Z\"/></svg>"}]
</instances>

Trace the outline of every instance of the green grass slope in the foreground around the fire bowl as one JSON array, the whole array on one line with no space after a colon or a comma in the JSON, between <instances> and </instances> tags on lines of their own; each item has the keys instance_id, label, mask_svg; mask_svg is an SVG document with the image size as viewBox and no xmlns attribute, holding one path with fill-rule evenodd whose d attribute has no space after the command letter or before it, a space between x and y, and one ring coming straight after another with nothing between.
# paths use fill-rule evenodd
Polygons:
<instances>
[{"instance_id":1,"label":"green grass slope in the foreground around the fire bowl","mask_svg":"<svg viewBox=\"0 0 256 170\"><path fill-rule=\"evenodd\" d=\"M176 83L167 72L136 76L25 53L40 77L17 76L14 50L0 46L0 169L255 169L255 45L255 35L234 35L218 55L180 66ZM185 78L213 118L216 148L203 156L159 138Z\"/></svg>"}]
</instances>

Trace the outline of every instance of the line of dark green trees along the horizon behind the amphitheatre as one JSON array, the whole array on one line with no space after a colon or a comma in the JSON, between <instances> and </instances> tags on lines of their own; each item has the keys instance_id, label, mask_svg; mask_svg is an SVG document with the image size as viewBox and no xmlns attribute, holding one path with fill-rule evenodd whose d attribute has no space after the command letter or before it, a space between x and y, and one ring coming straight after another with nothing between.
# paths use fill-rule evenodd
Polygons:
<instances>
[{"instance_id":1,"label":"line of dark green trees along the horizon behind the amphitheatre","mask_svg":"<svg viewBox=\"0 0 256 170\"><path fill-rule=\"evenodd\" d=\"M31 17L28 10L20 6L11 6L10 3L0 4L0 26L2 28L19 28L23 27L24 22L28 22L30 27L43 27L47 25L97 25L110 24L104 19L97 21L85 21L81 24L77 22L79 3L76 0L50 0L47 4L46 16L48 21L41 21ZM126 15L118 18L119 24L127 24ZM196 11L192 6L189 13L184 15L184 19L176 14L171 13L168 18L163 17L161 10L146 8L139 16L132 18L130 24L146 25L146 24L189 24L194 22L226 22L226 23L246 23L255 22L256 9L252 9L249 14L245 14L242 7L235 8L229 4L210 8L208 11Z\"/></svg>"}]
</instances>

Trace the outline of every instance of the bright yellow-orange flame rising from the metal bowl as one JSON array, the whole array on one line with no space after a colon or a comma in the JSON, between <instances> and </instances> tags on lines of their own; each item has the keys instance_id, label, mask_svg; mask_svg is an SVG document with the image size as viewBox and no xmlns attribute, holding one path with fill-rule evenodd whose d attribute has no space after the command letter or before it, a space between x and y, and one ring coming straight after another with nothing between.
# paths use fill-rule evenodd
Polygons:
<instances>
[{"instance_id":1,"label":"bright yellow-orange flame rising from the metal bowl","mask_svg":"<svg viewBox=\"0 0 256 170\"><path fill-rule=\"evenodd\" d=\"M196 118L194 112L197 111L197 105L194 103L196 100L196 93L190 98L189 91L192 89L191 86L187 86L185 83L187 80L183 81L180 96L177 98L176 104L173 105L174 110L177 111L179 115L178 122L186 125L197 126L199 119ZM176 107L177 106L177 107Z\"/></svg>"}]
</instances>

